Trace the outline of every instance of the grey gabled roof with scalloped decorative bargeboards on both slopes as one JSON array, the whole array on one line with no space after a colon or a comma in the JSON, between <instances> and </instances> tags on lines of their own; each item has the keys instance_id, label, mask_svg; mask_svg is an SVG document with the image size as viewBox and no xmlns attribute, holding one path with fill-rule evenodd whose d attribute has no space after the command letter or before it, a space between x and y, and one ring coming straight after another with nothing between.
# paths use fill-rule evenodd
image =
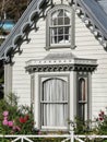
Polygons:
<instances>
[{"instance_id":1,"label":"grey gabled roof with scalloped decorative bargeboards on both slopes","mask_svg":"<svg viewBox=\"0 0 107 142\"><path fill-rule=\"evenodd\" d=\"M98 4L99 3L99 4ZM10 61L10 56L14 51L20 52L23 42L28 42L28 33L36 28L36 23L40 17L45 17L45 10L54 7L55 3L48 0L33 0L23 13L15 27L0 47L0 58ZM75 9L76 14L82 19L94 36L106 48L107 38L107 14L103 3L94 0L74 0L69 4ZM103 9L104 8L104 9Z\"/></svg>"}]
</instances>

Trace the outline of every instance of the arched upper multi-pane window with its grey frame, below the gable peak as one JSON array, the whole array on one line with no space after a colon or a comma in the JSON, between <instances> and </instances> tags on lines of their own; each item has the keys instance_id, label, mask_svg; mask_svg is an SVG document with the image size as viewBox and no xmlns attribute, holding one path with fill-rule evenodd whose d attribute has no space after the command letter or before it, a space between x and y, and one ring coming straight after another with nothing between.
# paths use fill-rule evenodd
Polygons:
<instances>
[{"instance_id":1,"label":"arched upper multi-pane window with its grey frame, below the gable peak","mask_svg":"<svg viewBox=\"0 0 107 142\"><path fill-rule=\"evenodd\" d=\"M58 5L50 10L47 14L46 48L71 47L73 22L70 7Z\"/></svg>"}]
</instances>

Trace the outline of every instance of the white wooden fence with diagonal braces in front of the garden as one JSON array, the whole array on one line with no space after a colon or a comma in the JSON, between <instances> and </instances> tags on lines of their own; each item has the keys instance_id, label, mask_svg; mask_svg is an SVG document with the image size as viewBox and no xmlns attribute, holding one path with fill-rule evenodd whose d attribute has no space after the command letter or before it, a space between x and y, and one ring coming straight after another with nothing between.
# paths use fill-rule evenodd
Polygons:
<instances>
[{"instance_id":1,"label":"white wooden fence with diagonal braces in front of the garden","mask_svg":"<svg viewBox=\"0 0 107 142\"><path fill-rule=\"evenodd\" d=\"M0 139L8 139L10 140L9 142L35 142L33 139L39 139L39 138L54 138L54 139L58 139L61 138L62 140L60 142L74 142L74 140L76 140L76 142L86 142L85 140L82 139L86 139L88 138L90 140L94 140L94 139L107 139L107 135L76 135L73 132L71 132L71 134L46 134L46 135L0 135ZM38 141L37 141L38 142Z\"/></svg>"}]
</instances>

